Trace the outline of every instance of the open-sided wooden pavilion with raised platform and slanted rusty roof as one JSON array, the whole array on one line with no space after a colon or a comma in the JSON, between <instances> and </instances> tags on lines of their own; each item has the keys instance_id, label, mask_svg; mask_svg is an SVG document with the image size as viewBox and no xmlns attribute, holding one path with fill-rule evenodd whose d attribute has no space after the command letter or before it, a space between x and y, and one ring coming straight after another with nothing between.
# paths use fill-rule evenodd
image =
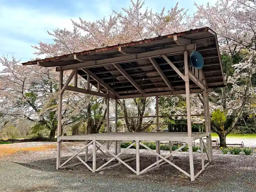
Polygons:
<instances>
[{"instance_id":1,"label":"open-sided wooden pavilion with raised platform and slanted rusty roof","mask_svg":"<svg viewBox=\"0 0 256 192\"><path fill-rule=\"evenodd\" d=\"M203 56L204 66L197 69L189 66L189 53L193 50L200 52ZM137 175L146 173L156 167L169 163L194 181L202 173L205 167L212 161L210 112L208 107L208 93L215 87L225 86L225 79L219 54L217 35L208 27L174 33L170 35L144 39L142 41L129 42L126 44L107 46L105 48L82 51L63 56L46 58L37 61L28 61L23 65L39 65L42 67L56 67L60 72L59 81L59 111L57 130L57 169L64 168L69 160L77 157L92 172L106 169L107 164L117 159L120 164L127 166ZM63 82L63 71L72 70L66 82ZM78 75L87 80L87 89L77 86ZM74 86L70 86L74 77ZM97 87L97 91L90 90L90 83ZM64 90L76 91L107 98L107 133L88 135L61 135L62 119L62 97ZM202 93L204 100L204 119L206 132L192 132L190 94ZM157 105L157 130L159 131L158 96L163 95L186 95L187 102L187 125L188 132L139 132L139 133L118 133L117 132L117 99L156 97ZM109 99L115 100L115 132L109 132ZM200 115L200 114L195 114ZM203 138L207 138L207 148ZM202 170L194 173L192 144L194 140L200 139ZM85 146L77 153L72 151L64 142L70 140L86 140ZM99 141L106 141L106 147ZM123 151L118 141L135 141ZM156 141L157 150L151 150L141 141ZM109 143L114 141L115 152L109 151ZM175 151L170 147L170 154L163 157L160 154L160 141L185 142L183 146ZM88 146L93 145L93 166L87 164ZM128 148L136 144L136 158L123 161L120 155ZM73 153L66 162L60 163L61 145ZM147 148L156 155L157 161L144 170L140 170L139 145ZM190 173L185 172L172 162L172 155L183 147L189 147ZM203 150L205 148L205 150ZM101 149L107 151L105 154ZM117 150L118 149L118 150ZM86 159L79 157L79 153L86 150ZM96 167L96 151L100 150L109 157L108 162ZM205 164L205 154L208 163ZM168 160L169 158L169 160ZM128 161L136 160L136 169L127 164ZM81 164L80 163L80 164ZM78 163L76 163L78 165Z\"/></svg>"}]
</instances>

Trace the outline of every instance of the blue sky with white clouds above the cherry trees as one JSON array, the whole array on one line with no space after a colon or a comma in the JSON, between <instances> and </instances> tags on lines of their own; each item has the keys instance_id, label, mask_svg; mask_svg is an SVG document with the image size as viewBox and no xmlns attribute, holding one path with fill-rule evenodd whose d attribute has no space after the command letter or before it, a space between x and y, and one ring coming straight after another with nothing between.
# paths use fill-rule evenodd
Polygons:
<instances>
[{"instance_id":1,"label":"blue sky with white clouds above the cherry trees","mask_svg":"<svg viewBox=\"0 0 256 192\"><path fill-rule=\"evenodd\" d=\"M206 4L207 0L195 0ZM216 1L216 0L211 0ZM145 0L153 11L163 7L174 7L177 1ZM179 0L179 7L196 11L193 0ZM34 58L34 49L38 41L51 42L47 33L58 27L72 30L70 19L101 19L111 14L112 10L120 11L128 7L130 0L0 0L0 54L14 55L16 59L26 62ZM1 68L1 66L0 66Z\"/></svg>"}]
</instances>

